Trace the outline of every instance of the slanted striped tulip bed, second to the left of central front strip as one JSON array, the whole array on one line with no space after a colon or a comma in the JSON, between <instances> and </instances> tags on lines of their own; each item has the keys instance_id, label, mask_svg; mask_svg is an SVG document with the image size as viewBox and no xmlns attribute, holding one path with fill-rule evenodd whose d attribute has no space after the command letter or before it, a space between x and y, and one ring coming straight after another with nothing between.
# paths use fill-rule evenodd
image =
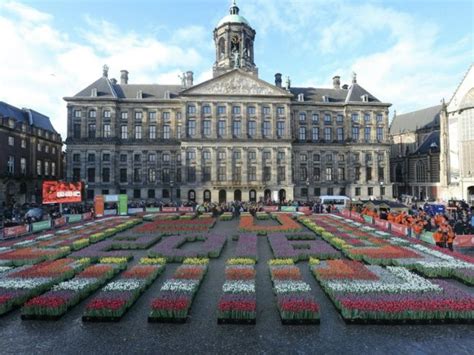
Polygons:
<instances>
[{"instance_id":1,"label":"slanted striped tulip bed, second to the left of central front strip","mask_svg":"<svg viewBox=\"0 0 474 355\"><path fill-rule=\"evenodd\" d=\"M112 258L113 259L113 258ZM142 259L139 265L108 283L87 305L83 321L117 322L165 268L164 259Z\"/></svg>"}]
</instances>

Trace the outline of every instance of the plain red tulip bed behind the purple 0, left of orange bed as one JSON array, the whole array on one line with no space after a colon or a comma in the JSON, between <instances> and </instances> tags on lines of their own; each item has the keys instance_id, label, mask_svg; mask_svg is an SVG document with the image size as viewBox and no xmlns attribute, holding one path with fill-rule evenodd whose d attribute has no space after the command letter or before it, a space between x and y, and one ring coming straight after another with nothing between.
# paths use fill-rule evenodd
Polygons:
<instances>
[{"instance_id":1,"label":"plain red tulip bed behind the purple 0, left of orange bed","mask_svg":"<svg viewBox=\"0 0 474 355\"><path fill-rule=\"evenodd\" d=\"M197 219L176 219L176 220L162 220L157 219L152 222L134 228L133 233L202 233L208 232L214 224L216 219L212 217L197 218Z\"/></svg>"}]
</instances>

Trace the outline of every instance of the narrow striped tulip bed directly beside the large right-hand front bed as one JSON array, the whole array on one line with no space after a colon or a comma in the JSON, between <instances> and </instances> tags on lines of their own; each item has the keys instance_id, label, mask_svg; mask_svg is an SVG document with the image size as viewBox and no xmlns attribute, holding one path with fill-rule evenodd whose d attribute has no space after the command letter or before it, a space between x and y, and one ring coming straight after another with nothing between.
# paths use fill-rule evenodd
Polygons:
<instances>
[{"instance_id":1,"label":"narrow striped tulip bed directly beside the large right-hand front bed","mask_svg":"<svg viewBox=\"0 0 474 355\"><path fill-rule=\"evenodd\" d=\"M273 292L283 324L318 324L319 305L292 259L269 261Z\"/></svg>"}]
</instances>

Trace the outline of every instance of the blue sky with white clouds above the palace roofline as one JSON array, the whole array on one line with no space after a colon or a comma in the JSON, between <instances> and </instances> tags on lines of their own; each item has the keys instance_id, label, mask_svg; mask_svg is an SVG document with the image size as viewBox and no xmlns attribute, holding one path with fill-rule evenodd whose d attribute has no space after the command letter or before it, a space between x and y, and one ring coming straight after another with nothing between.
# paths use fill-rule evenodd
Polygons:
<instances>
[{"instance_id":1,"label":"blue sky with white clouds above the palace roofline","mask_svg":"<svg viewBox=\"0 0 474 355\"><path fill-rule=\"evenodd\" d=\"M391 110L447 100L474 61L472 0L237 0L256 30L260 78L293 86L358 82ZM63 96L128 69L130 82L211 77L212 31L230 0L2 1L0 100L53 119L65 136Z\"/></svg>"}]
</instances>

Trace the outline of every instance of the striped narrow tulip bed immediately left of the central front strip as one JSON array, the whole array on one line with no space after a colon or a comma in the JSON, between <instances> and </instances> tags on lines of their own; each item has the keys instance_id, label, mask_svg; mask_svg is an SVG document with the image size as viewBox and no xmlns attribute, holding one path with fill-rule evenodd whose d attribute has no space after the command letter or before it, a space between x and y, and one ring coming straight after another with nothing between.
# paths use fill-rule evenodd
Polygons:
<instances>
[{"instance_id":1,"label":"striped narrow tulip bed immediately left of the central front strip","mask_svg":"<svg viewBox=\"0 0 474 355\"><path fill-rule=\"evenodd\" d=\"M149 322L185 323L194 296L206 275L209 259L189 258L166 280L151 303Z\"/></svg>"}]
</instances>

